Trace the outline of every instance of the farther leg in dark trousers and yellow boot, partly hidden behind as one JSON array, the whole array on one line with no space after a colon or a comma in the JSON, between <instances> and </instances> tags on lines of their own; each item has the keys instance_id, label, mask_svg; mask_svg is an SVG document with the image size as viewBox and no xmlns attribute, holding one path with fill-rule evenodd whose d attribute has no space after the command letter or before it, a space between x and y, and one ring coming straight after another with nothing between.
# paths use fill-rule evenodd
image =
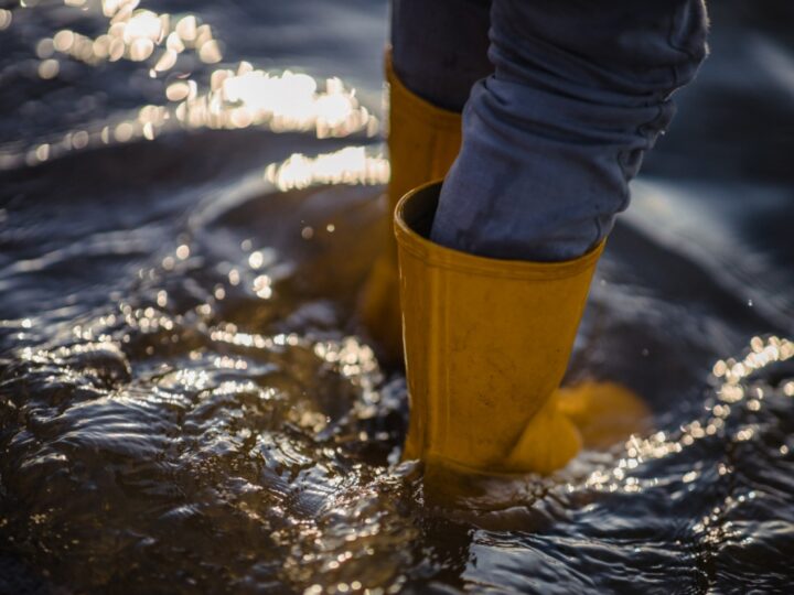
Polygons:
<instances>
[{"instance_id":1,"label":"farther leg in dark trousers and yellow boot, partly hidden behind","mask_svg":"<svg viewBox=\"0 0 794 595\"><path fill-rule=\"evenodd\" d=\"M490 0L395 0L389 83L388 209L408 191L443 177L458 155L460 110L472 85L492 72L487 60ZM390 220L389 220L390 224ZM384 253L358 312L379 355L403 353L397 252L389 225Z\"/></svg>"}]
</instances>

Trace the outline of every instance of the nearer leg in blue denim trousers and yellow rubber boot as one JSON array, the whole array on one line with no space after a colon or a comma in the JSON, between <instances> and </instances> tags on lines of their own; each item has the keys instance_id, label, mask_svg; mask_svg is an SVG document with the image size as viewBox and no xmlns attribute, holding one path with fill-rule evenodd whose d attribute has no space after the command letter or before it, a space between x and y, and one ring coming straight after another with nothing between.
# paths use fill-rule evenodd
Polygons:
<instances>
[{"instance_id":1,"label":"nearer leg in blue denim trousers and yellow rubber boot","mask_svg":"<svg viewBox=\"0 0 794 595\"><path fill-rule=\"evenodd\" d=\"M405 453L551 473L583 440L616 437L599 428L629 412L623 428L642 425L620 386L557 389L602 240L705 55L706 18L701 0L494 0L491 26L495 72L466 104L459 156L395 215Z\"/></svg>"}]
</instances>

